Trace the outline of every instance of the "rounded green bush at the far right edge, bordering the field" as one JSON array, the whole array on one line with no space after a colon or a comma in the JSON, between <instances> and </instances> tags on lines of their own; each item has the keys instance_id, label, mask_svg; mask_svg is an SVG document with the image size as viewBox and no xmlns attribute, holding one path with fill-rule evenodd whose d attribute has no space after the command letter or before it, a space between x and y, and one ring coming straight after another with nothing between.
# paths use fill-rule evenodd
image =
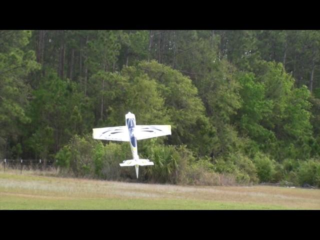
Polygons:
<instances>
[{"instance_id":1,"label":"rounded green bush at the far right edge, bordering the field","mask_svg":"<svg viewBox=\"0 0 320 240\"><path fill-rule=\"evenodd\" d=\"M297 172L297 178L301 185L307 183L320 186L320 161L310 159L302 162Z\"/></svg>"}]
</instances>

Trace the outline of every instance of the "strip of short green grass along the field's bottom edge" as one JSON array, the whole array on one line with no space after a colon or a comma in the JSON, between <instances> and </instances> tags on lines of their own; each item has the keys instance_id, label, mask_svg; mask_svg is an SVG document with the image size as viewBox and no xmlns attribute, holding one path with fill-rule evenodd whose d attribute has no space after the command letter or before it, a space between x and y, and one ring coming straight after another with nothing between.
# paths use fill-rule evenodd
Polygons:
<instances>
[{"instance_id":1,"label":"strip of short green grass along the field's bottom edge","mask_svg":"<svg viewBox=\"0 0 320 240\"><path fill-rule=\"evenodd\" d=\"M182 199L76 198L55 200L26 196L0 196L0 209L287 209L282 206Z\"/></svg>"}]
</instances>

